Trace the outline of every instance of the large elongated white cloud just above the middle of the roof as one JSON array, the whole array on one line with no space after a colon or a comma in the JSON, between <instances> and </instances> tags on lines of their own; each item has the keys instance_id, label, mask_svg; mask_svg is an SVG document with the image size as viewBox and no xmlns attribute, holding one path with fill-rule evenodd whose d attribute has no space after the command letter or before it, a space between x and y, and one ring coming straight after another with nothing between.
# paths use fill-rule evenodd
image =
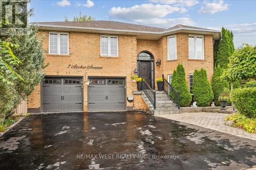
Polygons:
<instances>
[{"instance_id":1,"label":"large elongated white cloud just above the middle of the roof","mask_svg":"<svg viewBox=\"0 0 256 170\"><path fill-rule=\"evenodd\" d=\"M147 18L164 17L174 12L186 12L184 8L171 7L169 5L141 4L130 8L113 7L109 11L109 16L118 19L136 20Z\"/></svg>"}]
</instances>

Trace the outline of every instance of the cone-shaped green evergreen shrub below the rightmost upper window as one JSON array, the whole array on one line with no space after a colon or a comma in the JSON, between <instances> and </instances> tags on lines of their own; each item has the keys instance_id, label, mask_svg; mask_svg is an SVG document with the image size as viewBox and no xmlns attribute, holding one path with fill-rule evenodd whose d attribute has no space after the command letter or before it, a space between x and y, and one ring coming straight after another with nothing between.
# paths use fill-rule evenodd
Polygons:
<instances>
[{"instance_id":1,"label":"cone-shaped green evergreen shrub below the rightmost upper window","mask_svg":"<svg viewBox=\"0 0 256 170\"><path fill-rule=\"evenodd\" d=\"M205 69L201 68L200 71L195 70L193 75L193 88L194 101L198 106L209 106L214 99L210 83L207 79Z\"/></svg>"}]
</instances>

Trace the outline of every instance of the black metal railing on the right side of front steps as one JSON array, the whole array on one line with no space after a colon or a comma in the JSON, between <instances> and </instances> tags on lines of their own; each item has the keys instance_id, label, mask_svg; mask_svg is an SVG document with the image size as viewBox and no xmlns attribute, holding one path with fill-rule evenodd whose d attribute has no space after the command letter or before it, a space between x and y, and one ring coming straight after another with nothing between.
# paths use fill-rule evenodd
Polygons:
<instances>
[{"instance_id":1,"label":"black metal railing on the right side of front steps","mask_svg":"<svg viewBox=\"0 0 256 170\"><path fill-rule=\"evenodd\" d=\"M163 90L169 95L170 99L176 103L180 109L180 92L177 91L170 83L163 77Z\"/></svg>"}]
</instances>

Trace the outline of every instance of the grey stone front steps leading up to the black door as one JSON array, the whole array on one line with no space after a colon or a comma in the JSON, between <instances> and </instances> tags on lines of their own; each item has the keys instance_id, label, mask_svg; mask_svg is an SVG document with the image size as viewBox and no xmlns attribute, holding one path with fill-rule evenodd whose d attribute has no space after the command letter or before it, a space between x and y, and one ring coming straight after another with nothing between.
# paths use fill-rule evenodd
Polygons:
<instances>
[{"instance_id":1,"label":"grey stone front steps leading up to the black door","mask_svg":"<svg viewBox=\"0 0 256 170\"><path fill-rule=\"evenodd\" d=\"M169 98L169 96L164 91L156 91L156 109L154 109L153 104L150 102L144 92L142 92L142 99L154 114L180 113L180 109L178 109L177 105Z\"/></svg>"}]
</instances>

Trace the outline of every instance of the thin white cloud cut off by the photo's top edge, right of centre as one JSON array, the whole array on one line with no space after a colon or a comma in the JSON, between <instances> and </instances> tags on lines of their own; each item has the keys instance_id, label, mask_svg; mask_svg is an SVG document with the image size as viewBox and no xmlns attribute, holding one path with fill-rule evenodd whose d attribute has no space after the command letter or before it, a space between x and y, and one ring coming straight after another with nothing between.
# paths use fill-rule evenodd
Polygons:
<instances>
[{"instance_id":1,"label":"thin white cloud cut off by the photo's top edge, right of centre","mask_svg":"<svg viewBox=\"0 0 256 170\"><path fill-rule=\"evenodd\" d=\"M150 2L159 3L159 4L167 4L181 7L192 7L196 4L199 4L196 0L150 0Z\"/></svg>"}]
</instances>

